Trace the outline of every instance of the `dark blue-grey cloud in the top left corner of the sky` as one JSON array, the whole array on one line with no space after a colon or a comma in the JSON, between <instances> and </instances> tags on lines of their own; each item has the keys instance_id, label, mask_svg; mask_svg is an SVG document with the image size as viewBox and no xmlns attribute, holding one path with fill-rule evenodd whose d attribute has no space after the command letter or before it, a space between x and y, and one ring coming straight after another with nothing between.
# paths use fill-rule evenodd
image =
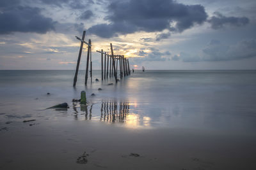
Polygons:
<instances>
[{"instance_id":1,"label":"dark blue-grey cloud in the top left corner of the sky","mask_svg":"<svg viewBox=\"0 0 256 170\"><path fill-rule=\"evenodd\" d=\"M44 17L40 8L20 6L19 1L15 3L1 2L0 34L11 32L36 32L44 34L54 30L54 22L51 18Z\"/></svg>"}]
</instances>

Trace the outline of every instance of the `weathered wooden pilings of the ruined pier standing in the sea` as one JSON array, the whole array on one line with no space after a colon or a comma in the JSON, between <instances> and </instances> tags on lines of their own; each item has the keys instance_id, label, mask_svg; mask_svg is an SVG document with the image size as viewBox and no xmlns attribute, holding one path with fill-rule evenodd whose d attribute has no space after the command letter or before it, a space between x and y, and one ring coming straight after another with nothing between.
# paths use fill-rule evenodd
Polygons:
<instances>
[{"instance_id":1,"label":"weathered wooden pilings of the ruined pier standing in the sea","mask_svg":"<svg viewBox=\"0 0 256 170\"><path fill-rule=\"evenodd\" d=\"M88 43L84 41L85 33L86 31L83 31L82 38L79 38L76 36L76 38L79 41L81 41L81 45L80 45L79 55L77 59L77 66L76 66L76 73L74 76L73 87L76 87L77 74L79 70L79 64L80 64L84 44L88 45L84 84L87 85L89 62L90 62L90 78L92 82L92 41L91 39L88 40ZM119 60L119 67L120 67L120 78L123 78L124 76L128 76L129 74L131 74L129 60L125 58L124 55L114 55L112 43L110 43L110 48L111 48L111 55L109 55L108 52L103 52L103 50L101 50L101 52L97 51L101 53L101 79L106 80L106 78L108 77L111 78L114 76L115 81L117 82L118 81L118 75L117 75L118 60ZM103 55L104 55L104 60L103 60ZM107 62L106 62L106 58L108 59ZM107 64L107 67L106 67L106 64ZM103 65L104 65L104 68L103 68Z\"/></svg>"}]
</instances>

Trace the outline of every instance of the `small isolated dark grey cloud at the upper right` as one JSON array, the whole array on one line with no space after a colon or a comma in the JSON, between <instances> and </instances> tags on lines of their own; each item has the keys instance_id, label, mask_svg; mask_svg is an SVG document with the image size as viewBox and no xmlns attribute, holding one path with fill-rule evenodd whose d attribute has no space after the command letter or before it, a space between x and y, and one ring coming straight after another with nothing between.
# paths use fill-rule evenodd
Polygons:
<instances>
[{"instance_id":1,"label":"small isolated dark grey cloud at the upper right","mask_svg":"<svg viewBox=\"0 0 256 170\"><path fill-rule=\"evenodd\" d=\"M244 26L249 23L249 19L246 17L225 17L221 13L215 12L216 16L211 17L208 22L211 24L212 29L220 29L225 25L231 26Z\"/></svg>"}]
</instances>

